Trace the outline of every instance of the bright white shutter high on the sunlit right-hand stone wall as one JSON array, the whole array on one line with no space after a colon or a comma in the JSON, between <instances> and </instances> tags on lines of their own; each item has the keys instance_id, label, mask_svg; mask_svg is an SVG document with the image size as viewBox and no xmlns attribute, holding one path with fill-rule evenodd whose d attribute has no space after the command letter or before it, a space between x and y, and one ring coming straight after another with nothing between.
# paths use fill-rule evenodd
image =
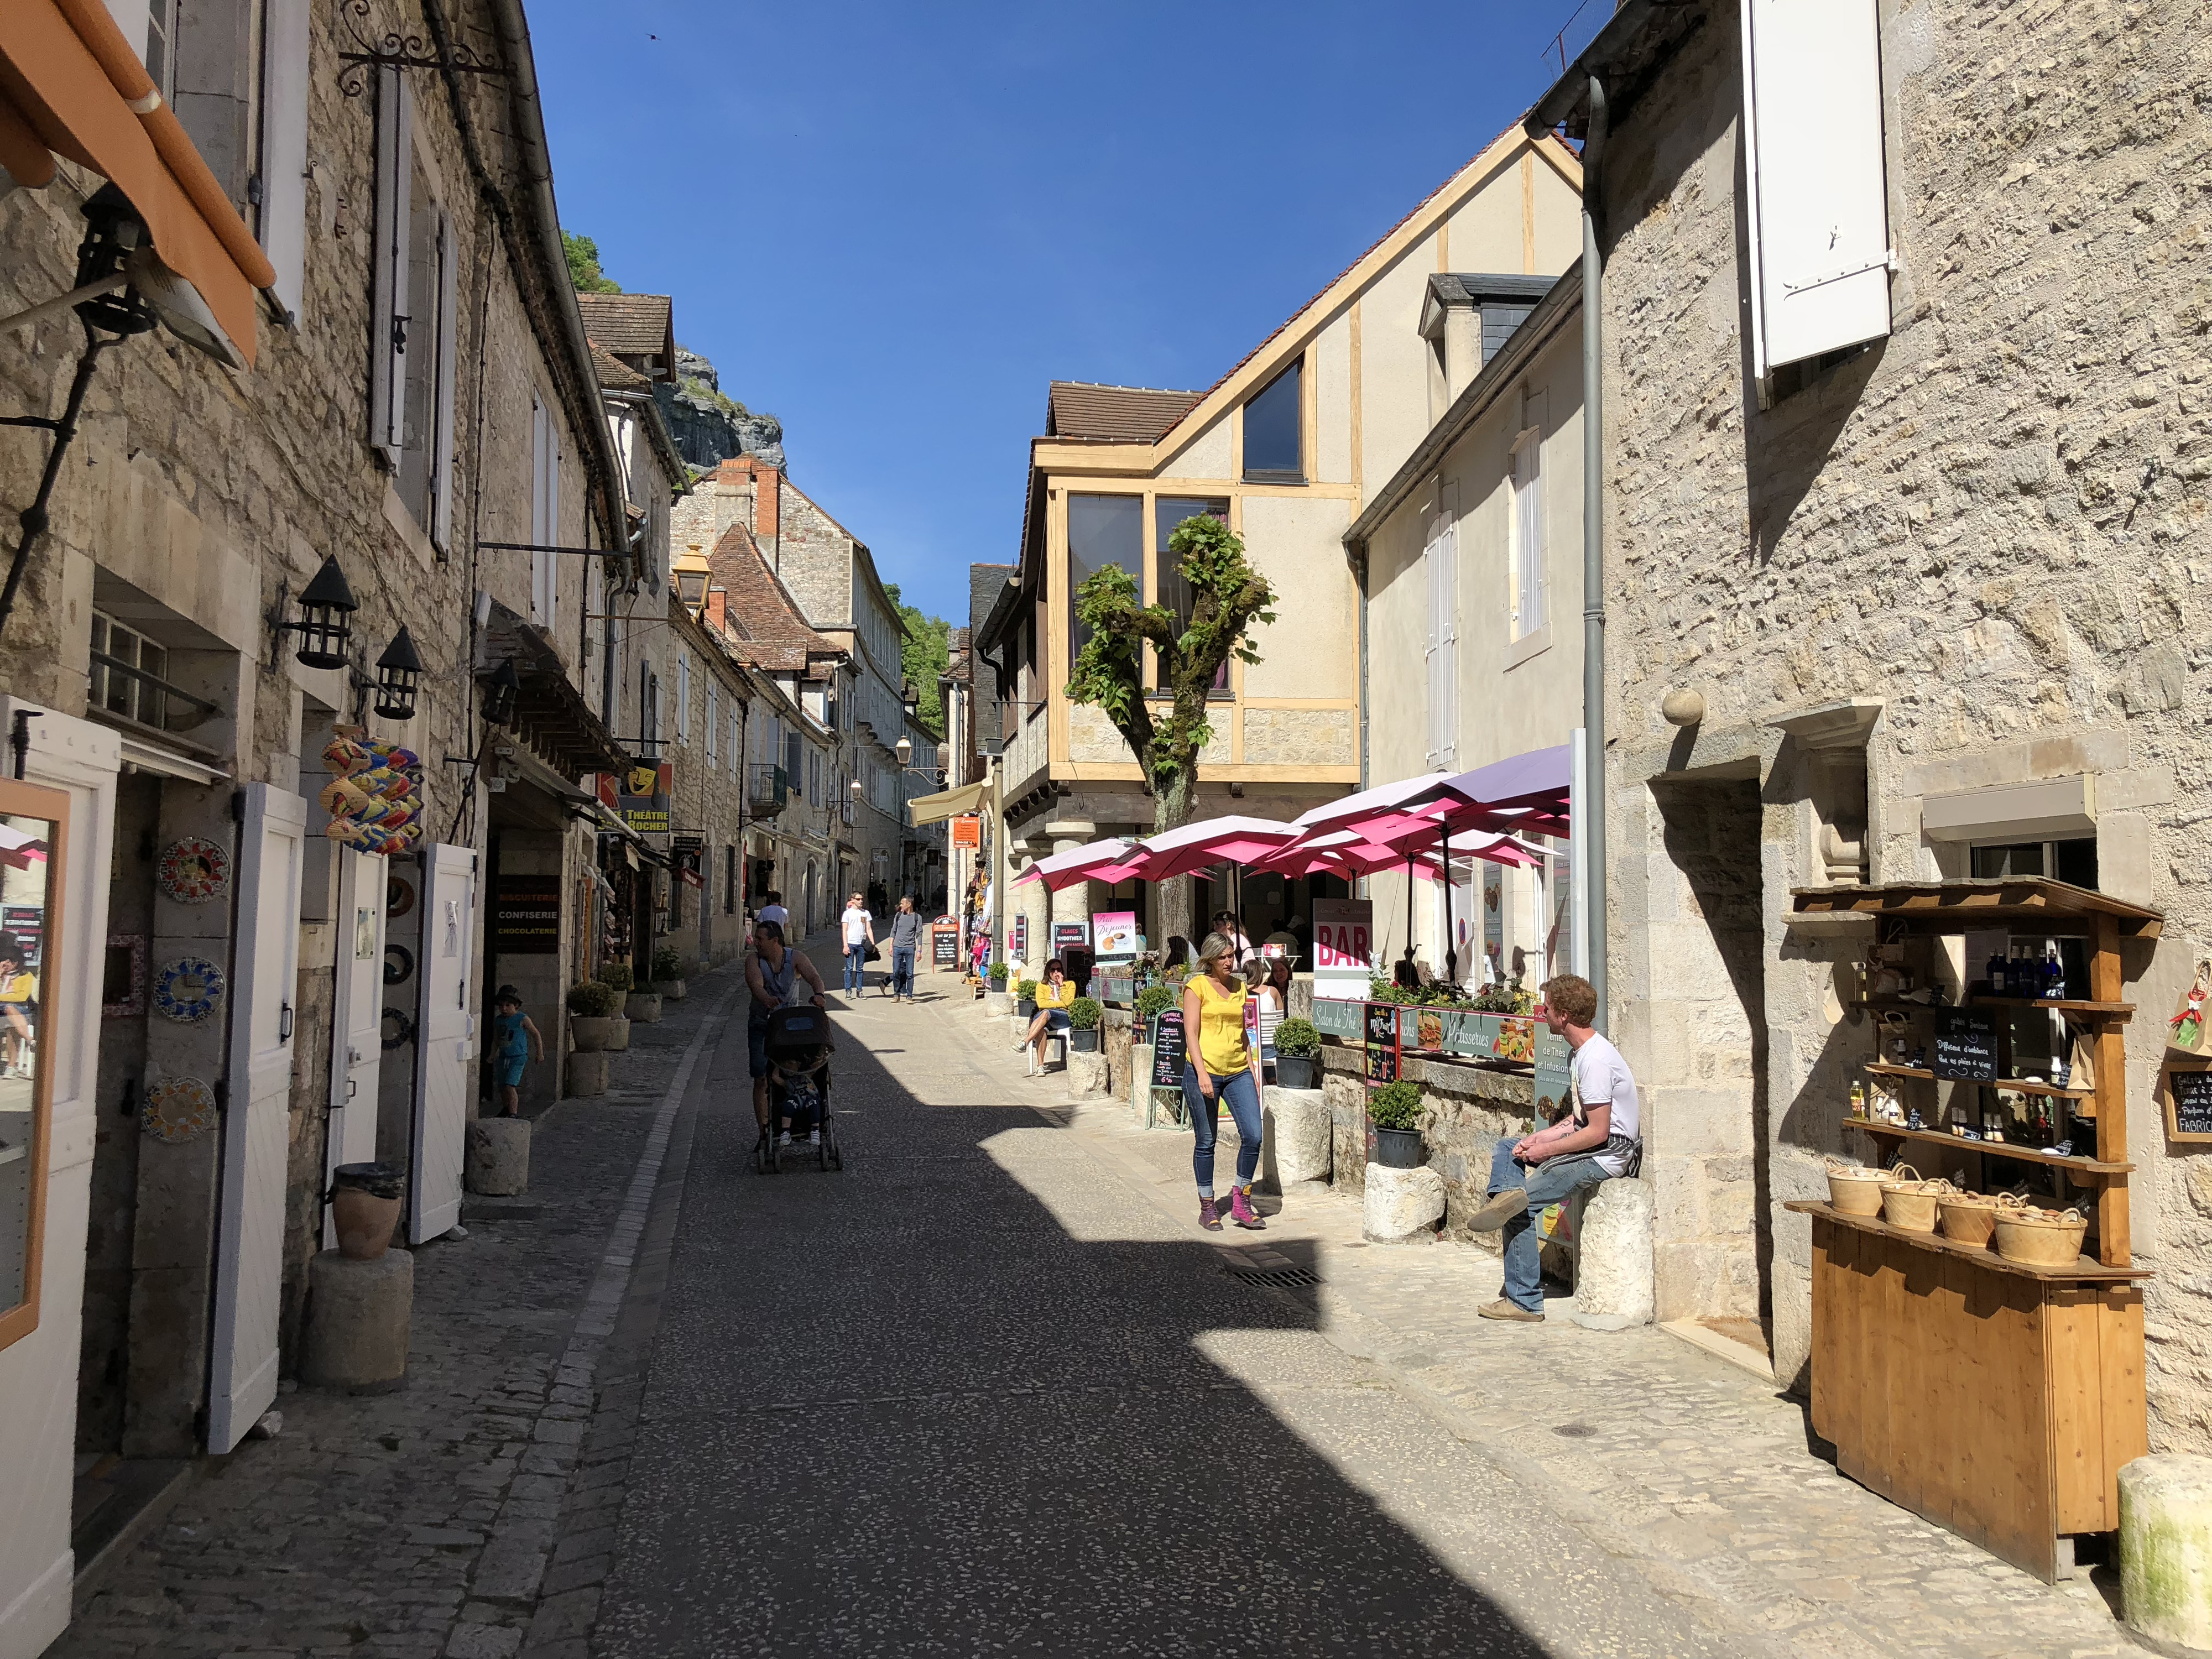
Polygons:
<instances>
[{"instance_id":1,"label":"bright white shutter high on the sunlit right-hand stone wall","mask_svg":"<svg viewBox=\"0 0 2212 1659\"><path fill-rule=\"evenodd\" d=\"M1743 0L1752 363L1889 334L1874 0Z\"/></svg>"}]
</instances>

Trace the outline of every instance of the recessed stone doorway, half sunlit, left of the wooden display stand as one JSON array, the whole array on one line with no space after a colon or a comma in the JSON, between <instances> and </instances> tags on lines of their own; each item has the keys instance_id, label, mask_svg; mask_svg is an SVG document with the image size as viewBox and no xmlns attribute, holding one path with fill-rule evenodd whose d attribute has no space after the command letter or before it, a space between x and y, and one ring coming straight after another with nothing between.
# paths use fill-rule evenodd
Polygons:
<instances>
[{"instance_id":1,"label":"recessed stone doorway, half sunlit, left of the wooden display stand","mask_svg":"<svg viewBox=\"0 0 2212 1659\"><path fill-rule=\"evenodd\" d=\"M1767 995L1756 776L1652 783L1674 891L1655 874L1644 1172L1659 1214L1659 1318L1767 1352L1774 1318ZM1668 902L1670 900L1670 902Z\"/></svg>"}]
</instances>

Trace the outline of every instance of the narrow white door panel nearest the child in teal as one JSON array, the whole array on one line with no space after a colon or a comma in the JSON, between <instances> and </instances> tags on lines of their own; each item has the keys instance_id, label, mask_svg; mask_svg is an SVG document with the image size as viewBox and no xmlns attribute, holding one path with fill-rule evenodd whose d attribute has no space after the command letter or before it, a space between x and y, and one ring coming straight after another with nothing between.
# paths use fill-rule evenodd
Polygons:
<instances>
[{"instance_id":1,"label":"narrow white door panel nearest the child in teal","mask_svg":"<svg viewBox=\"0 0 2212 1659\"><path fill-rule=\"evenodd\" d=\"M460 1166L476 1091L476 1013L469 962L476 938L476 852L422 849L422 942L416 984L414 1146L407 1159L407 1241L460 1221Z\"/></svg>"}]
</instances>

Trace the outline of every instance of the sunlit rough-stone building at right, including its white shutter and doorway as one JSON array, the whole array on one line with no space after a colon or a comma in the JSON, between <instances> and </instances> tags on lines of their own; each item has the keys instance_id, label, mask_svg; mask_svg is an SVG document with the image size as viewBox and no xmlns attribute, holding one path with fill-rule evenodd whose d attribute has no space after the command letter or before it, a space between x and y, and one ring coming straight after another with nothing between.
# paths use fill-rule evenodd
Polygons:
<instances>
[{"instance_id":1,"label":"sunlit rough-stone building at right, including its white shutter and doorway","mask_svg":"<svg viewBox=\"0 0 2212 1659\"><path fill-rule=\"evenodd\" d=\"M1856 38L1763 55L1752 128L1723 4L1624 7L1531 117L1582 137L1595 77L1610 119L1606 949L1659 1316L1772 1318L1805 1383L1781 1206L1867 1155L1838 1119L1871 1037L1790 889L2059 876L2166 918L2126 953L2132 1252L2150 1444L2205 1451L2212 1172L2159 1077L2212 953L2212 44L2157 7L1809 20Z\"/></svg>"}]
</instances>

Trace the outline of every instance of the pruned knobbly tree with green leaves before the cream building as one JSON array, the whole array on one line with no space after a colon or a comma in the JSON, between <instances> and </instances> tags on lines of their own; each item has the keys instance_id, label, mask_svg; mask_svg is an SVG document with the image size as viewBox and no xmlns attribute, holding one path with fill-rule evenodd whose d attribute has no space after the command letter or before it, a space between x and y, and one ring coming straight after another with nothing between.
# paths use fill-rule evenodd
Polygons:
<instances>
[{"instance_id":1,"label":"pruned knobbly tree with green leaves before the cream building","mask_svg":"<svg viewBox=\"0 0 2212 1659\"><path fill-rule=\"evenodd\" d=\"M1245 630L1274 622L1274 588L1245 560L1243 538L1219 518L1186 518L1168 538L1168 555L1190 591L1188 624L1164 604L1137 604L1137 577L1119 564L1102 566L1075 591L1075 617L1091 637L1068 677L1068 701L1104 710L1144 768L1155 832L1190 823L1199 750L1212 737L1206 697L1230 657L1259 661ZM1159 686L1175 697L1164 717L1155 717L1144 695L1148 644ZM1161 887L1159 927L1161 938L1197 938L1186 878Z\"/></svg>"}]
</instances>

